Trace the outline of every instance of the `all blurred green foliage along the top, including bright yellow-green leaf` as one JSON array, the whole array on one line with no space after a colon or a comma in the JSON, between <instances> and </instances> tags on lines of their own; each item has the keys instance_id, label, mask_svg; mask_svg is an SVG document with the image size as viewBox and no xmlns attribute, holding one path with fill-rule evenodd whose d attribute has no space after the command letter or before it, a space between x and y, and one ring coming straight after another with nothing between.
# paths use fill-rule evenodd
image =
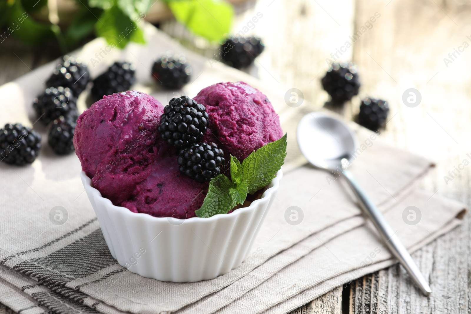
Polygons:
<instances>
[{"instance_id":1,"label":"all blurred green foliage along the top, including bright yellow-green leaf","mask_svg":"<svg viewBox=\"0 0 471 314\"><path fill-rule=\"evenodd\" d=\"M78 11L70 21L52 24L43 16L48 0L0 0L0 42L15 36L31 46L57 40L62 53L95 34L124 48L130 41L145 43L139 22L156 0L75 0ZM229 32L233 8L221 0L164 0L175 18L192 32L218 41ZM46 10L47 12L47 10Z\"/></svg>"}]
</instances>

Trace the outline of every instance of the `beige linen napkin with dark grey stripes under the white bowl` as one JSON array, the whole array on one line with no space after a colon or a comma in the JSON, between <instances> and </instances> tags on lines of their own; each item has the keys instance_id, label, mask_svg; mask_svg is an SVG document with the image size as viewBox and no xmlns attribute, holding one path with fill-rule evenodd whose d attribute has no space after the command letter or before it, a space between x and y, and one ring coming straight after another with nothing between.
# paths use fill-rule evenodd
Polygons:
<instances>
[{"instance_id":1,"label":"beige linen napkin with dark grey stripes under the white bowl","mask_svg":"<svg viewBox=\"0 0 471 314\"><path fill-rule=\"evenodd\" d=\"M182 313L233 313L238 308L250 309L251 313L266 310L283 313L292 306L308 302L307 298L315 298L319 291L325 293L328 291L325 289L342 284L345 274L357 278L366 269L373 269L368 267L393 262L382 248L382 255L374 260L375 264L358 271L361 264L358 258L365 257L359 252L370 253L372 241L375 241L374 231L361 226L364 220L341 179L310 166L297 168L305 160L300 156L294 130L298 118L309 112L309 108L287 107L284 93L272 91L242 72L212 64L152 27L146 27L146 36L147 46L131 44L123 51L112 50L96 67L90 66L92 76L117 59L127 59L138 66L136 89L151 93L165 103L174 94L155 90L148 69L154 56L171 49L184 52L192 62L196 79L185 87L184 93L188 96L195 96L200 89L219 81L243 80L267 94L280 114L283 129L289 135L288 156L283 168L287 173L250 258L228 274L195 283L158 282L126 271L106 247L95 214L83 193L78 159L74 155L57 157L44 141L40 157L31 166L12 168L0 164L3 177L0 183L0 262L3 265L0 287L8 291L8 295L0 296L0 302L16 311L30 306L28 311L32 313L43 313L45 307L55 313L171 313L178 310ZM97 39L76 54L89 60L105 46L103 40ZM36 121L32 99L44 88L42 82L54 66L55 63L47 64L0 87L0 123L18 121L28 125ZM82 95L82 108L87 101L86 95ZM39 123L34 127L44 131ZM364 144L360 147L364 149L358 152L351 170L380 209L394 213L388 219L391 224L396 219L401 240L405 241L401 234L407 235L419 225L431 234L439 234L459 222L455 217L462 211L462 204L434 196L429 200L433 204L430 205L425 201L429 195L413 189L414 183L430 168L429 161L384 145L380 138L364 129L357 127L356 131L359 143ZM292 171L288 172L290 169ZM414 227L402 220L407 200L422 201L422 221ZM57 206L61 206L64 214L62 225L55 225L50 218ZM297 225L285 219L286 210L292 206L302 211ZM348 236L350 233L355 238ZM405 244L411 249L420 245L418 243L423 245L430 241L428 233L410 234L412 239ZM338 241L340 238L343 241ZM374 245L380 248L381 242ZM337 261L323 259L329 258L327 253L334 250ZM350 262L341 263L341 260ZM16 274L21 274L21 279L15 277ZM298 274L309 275L301 276L298 282L300 279L294 277ZM297 288L286 289L293 285ZM274 290L280 293L271 293ZM258 300L257 296L264 293L270 297ZM12 306L16 304L13 298L19 300L16 307Z\"/></svg>"}]
</instances>

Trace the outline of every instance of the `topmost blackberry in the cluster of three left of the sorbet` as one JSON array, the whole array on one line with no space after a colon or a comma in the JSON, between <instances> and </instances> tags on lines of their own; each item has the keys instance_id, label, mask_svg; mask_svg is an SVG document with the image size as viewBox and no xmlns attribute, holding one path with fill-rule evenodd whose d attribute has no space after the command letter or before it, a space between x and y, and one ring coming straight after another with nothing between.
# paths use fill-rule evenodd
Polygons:
<instances>
[{"instance_id":1,"label":"topmost blackberry in the cluster of three left of the sorbet","mask_svg":"<svg viewBox=\"0 0 471 314\"><path fill-rule=\"evenodd\" d=\"M57 64L46 85L68 87L75 97L79 97L90 80L88 68L82 63L81 58L64 56L63 60L63 63Z\"/></svg>"}]
</instances>

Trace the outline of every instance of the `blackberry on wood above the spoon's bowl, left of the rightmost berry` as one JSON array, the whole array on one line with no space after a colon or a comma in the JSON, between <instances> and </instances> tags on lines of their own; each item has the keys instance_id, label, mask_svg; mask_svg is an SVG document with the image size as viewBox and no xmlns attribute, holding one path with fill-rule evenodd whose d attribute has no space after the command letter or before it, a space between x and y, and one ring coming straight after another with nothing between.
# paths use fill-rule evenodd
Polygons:
<instances>
[{"instance_id":1,"label":"blackberry on wood above the spoon's bowl, left of the rightmost berry","mask_svg":"<svg viewBox=\"0 0 471 314\"><path fill-rule=\"evenodd\" d=\"M322 78L322 87L332 97L332 102L343 104L358 95L360 81L357 66L353 63L333 63Z\"/></svg>"}]
</instances>

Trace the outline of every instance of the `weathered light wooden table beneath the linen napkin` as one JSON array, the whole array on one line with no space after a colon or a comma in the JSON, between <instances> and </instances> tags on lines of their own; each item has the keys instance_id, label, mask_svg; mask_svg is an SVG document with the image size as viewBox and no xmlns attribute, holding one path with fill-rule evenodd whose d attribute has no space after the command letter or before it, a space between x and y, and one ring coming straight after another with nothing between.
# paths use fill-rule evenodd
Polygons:
<instances>
[{"instance_id":1,"label":"weathered light wooden table beneath the linen napkin","mask_svg":"<svg viewBox=\"0 0 471 314\"><path fill-rule=\"evenodd\" d=\"M261 79L279 88L300 89L313 109L328 99L320 78L326 58L335 56L349 36L380 14L353 47L337 52L358 64L360 97L390 102L390 121L382 137L391 144L422 154L437 163L422 188L471 203L471 165L452 180L448 171L463 159L471 161L471 1L470 0L263 0L237 16L238 30L261 12L253 32L263 37L266 51L256 65ZM263 21L263 23L262 23ZM467 38L470 36L470 38ZM32 53L13 38L0 44L0 84L51 60L50 52ZM444 58L451 62L445 63ZM406 89L418 89L422 102L407 107ZM345 107L354 116L360 98ZM15 104L11 104L15 105ZM461 167L462 168L462 167ZM469 313L471 309L471 220L431 242L412 256L433 290L425 298L414 288L402 266L391 266L357 279L294 310L310 313ZM11 313L0 307L0 314Z\"/></svg>"}]
</instances>

